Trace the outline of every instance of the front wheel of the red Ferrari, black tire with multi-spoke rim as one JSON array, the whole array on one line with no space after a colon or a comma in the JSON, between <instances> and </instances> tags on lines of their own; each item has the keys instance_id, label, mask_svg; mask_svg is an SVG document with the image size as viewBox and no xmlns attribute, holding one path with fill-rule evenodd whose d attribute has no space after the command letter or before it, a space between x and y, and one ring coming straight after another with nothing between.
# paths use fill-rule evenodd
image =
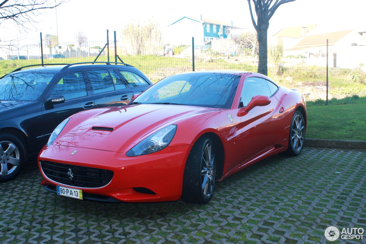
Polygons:
<instances>
[{"instance_id":1,"label":"front wheel of the red Ferrari, black tire with multi-spoke rim","mask_svg":"<svg viewBox=\"0 0 366 244\"><path fill-rule=\"evenodd\" d=\"M201 137L191 149L183 175L182 200L186 203L210 202L216 178L216 148L210 138ZM206 184L203 185L203 182Z\"/></svg>"}]
</instances>

